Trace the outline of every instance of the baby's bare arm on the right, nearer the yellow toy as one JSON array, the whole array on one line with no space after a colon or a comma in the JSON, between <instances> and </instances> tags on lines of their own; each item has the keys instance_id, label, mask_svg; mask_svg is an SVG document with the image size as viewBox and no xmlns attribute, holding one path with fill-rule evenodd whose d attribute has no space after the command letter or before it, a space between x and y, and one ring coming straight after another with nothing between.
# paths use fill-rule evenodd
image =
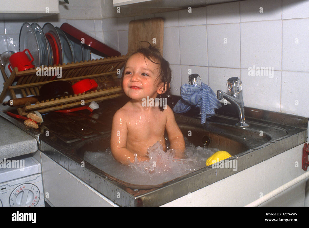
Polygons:
<instances>
[{"instance_id":1,"label":"baby's bare arm on the right, nearer the yellow toy","mask_svg":"<svg viewBox=\"0 0 309 228\"><path fill-rule=\"evenodd\" d=\"M184 143L184 136L181 133L173 111L169 106L167 106L166 110L163 112L167 112L167 121L165 129L168 134L168 139L170 141L170 148L175 151L174 158L185 158L184 150L185 150L185 143Z\"/></svg>"}]
</instances>

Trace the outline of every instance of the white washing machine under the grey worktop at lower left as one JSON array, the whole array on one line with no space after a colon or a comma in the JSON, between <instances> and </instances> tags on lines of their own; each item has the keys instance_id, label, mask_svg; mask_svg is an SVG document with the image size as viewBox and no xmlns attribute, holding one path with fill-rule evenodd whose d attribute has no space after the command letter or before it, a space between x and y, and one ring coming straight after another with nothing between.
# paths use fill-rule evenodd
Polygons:
<instances>
[{"instance_id":1,"label":"white washing machine under the grey worktop at lower left","mask_svg":"<svg viewBox=\"0 0 309 228\"><path fill-rule=\"evenodd\" d=\"M31 154L0 160L0 206L44 206L41 173Z\"/></svg>"}]
</instances>

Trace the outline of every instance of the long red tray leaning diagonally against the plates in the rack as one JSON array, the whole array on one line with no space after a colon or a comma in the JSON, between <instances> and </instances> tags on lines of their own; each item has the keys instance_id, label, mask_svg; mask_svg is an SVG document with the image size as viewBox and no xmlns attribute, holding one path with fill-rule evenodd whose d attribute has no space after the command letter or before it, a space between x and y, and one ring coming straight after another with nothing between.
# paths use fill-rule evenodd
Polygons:
<instances>
[{"instance_id":1,"label":"long red tray leaning diagonally against the plates in the rack","mask_svg":"<svg viewBox=\"0 0 309 228\"><path fill-rule=\"evenodd\" d=\"M85 44L102 53L103 56L112 57L112 56L119 56L121 55L120 52L108 47L107 45L101 43L99 40L88 36L86 33L78 30L77 28L73 27L68 23L63 23L61 25L61 30L70 34L71 36L75 37L79 41L82 39L85 41Z\"/></svg>"}]
</instances>

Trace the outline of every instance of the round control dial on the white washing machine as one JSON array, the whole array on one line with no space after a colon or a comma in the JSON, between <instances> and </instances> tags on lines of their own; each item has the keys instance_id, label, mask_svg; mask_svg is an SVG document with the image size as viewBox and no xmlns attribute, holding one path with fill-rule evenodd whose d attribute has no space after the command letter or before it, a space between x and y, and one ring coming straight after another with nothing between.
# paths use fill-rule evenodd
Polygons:
<instances>
[{"instance_id":1,"label":"round control dial on the white washing machine","mask_svg":"<svg viewBox=\"0 0 309 228\"><path fill-rule=\"evenodd\" d=\"M34 184L21 184L10 195L10 206L35 207L40 200L40 190Z\"/></svg>"}]
</instances>

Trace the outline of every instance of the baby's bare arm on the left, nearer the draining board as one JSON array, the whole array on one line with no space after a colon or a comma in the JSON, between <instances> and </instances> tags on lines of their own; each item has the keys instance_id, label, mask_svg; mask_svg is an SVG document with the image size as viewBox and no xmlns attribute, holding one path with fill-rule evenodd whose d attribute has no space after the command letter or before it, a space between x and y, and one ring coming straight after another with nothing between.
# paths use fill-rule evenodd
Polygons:
<instances>
[{"instance_id":1,"label":"baby's bare arm on the left, nearer the draining board","mask_svg":"<svg viewBox=\"0 0 309 228\"><path fill-rule=\"evenodd\" d=\"M112 122L111 133L111 150L113 157L120 163L128 165L135 161L134 154L130 152L127 147L128 128L125 121L125 112L119 109ZM149 158L137 155L139 161L146 161Z\"/></svg>"}]
</instances>

